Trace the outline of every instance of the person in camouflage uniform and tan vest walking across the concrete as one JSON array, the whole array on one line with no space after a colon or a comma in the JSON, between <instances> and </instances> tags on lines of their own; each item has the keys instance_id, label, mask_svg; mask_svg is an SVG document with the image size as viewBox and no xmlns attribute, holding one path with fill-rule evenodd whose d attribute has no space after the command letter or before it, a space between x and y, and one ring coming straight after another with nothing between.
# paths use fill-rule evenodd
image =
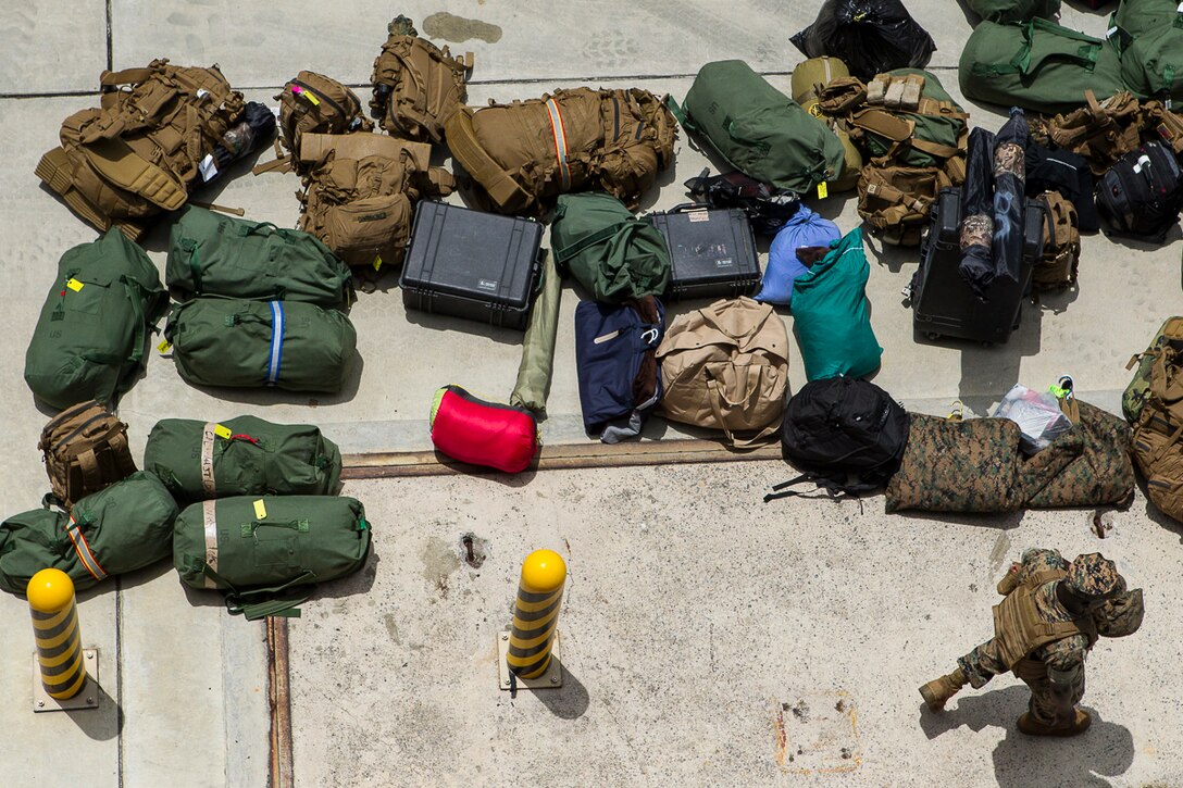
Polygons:
<instances>
[{"instance_id":1,"label":"person in camouflage uniform and tan vest walking across the concrete","mask_svg":"<svg viewBox=\"0 0 1183 788\"><path fill-rule=\"evenodd\" d=\"M1032 691L1019 730L1074 736L1092 722L1077 708L1085 693L1085 658L1099 635L1123 637L1142 625L1142 590L1099 553L1071 563L1055 550L1032 549L998 582L1007 599L994 608L995 637L957 660L957 670L929 682L920 695L933 711L962 686L981 689L1013 672Z\"/></svg>"}]
</instances>

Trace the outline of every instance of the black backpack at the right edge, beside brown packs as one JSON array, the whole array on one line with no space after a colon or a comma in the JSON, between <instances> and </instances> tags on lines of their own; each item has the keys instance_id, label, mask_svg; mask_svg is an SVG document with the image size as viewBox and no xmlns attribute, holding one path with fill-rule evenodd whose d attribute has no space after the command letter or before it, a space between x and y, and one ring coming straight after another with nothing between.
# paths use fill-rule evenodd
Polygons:
<instances>
[{"instance_id":1,"label":"black backpack at the right edge, beside brown packs","mask_svg":"<svg viewBox=\"0 0 1183 788\"><path fill-rule=\"evenodd\" d=\"M1178 161L1157 142L1121 156L1097 183L1097 212L1110 235L1162 244L1178 220L1181 205Z\"/></svg>"}]
</instances>

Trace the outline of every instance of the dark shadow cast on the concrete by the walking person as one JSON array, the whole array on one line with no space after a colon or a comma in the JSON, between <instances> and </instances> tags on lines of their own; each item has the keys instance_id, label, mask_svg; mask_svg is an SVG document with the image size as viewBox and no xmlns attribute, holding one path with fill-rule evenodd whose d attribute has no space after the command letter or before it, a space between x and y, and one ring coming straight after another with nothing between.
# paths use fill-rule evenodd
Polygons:
<instances>
[{"instance_id":1,"label":"dark shadow cast on the concrete by the walking person","mask_svg":"<svg viewBox=\"0 0 1183 788\"><path fill-rule=\"evenodd\" d=\"M1092 709L1088 713L1093 724L1080 736L1026 736L1015 728L1030 697L1026 686L1008 686L982 695L964 695L967 691L957 696L955 709L932 713L922 706L920 728L930 739L961 725L975 731L988 726L1006 729L1007 736L994 748L993 755L994 776L1004 788L1108 786L1108 780L1104 777L1125 774L1133 763L1133 736L1130 730L1101 719Z\"/></svg>"}]
</instances>

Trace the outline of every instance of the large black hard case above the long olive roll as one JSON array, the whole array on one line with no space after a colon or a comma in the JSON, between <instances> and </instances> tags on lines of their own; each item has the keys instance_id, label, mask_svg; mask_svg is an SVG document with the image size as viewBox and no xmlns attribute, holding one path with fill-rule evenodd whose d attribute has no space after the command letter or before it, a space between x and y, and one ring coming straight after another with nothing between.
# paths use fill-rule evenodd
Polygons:
<instances>
[{"instance_id":1,"label":"large black hard case above the long olive roll","mask_svg":"<svg viewBox=\"0 0 1183 788\"><path fill-rule=\"evenodd\" d=\"M524 329L543 254L537 221L420 202L399 279L402 303Z\"/></svg>"}]
</instances>

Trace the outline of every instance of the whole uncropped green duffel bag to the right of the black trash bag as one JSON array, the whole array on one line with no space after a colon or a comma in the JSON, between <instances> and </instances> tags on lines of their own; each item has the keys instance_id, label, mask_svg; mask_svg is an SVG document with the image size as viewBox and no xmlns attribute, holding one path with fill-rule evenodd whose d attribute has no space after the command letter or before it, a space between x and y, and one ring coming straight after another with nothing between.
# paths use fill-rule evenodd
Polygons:
<instances>
[{"instance_id":1,"label":"whole uncropped green duffel bag to the right of the black trash bag","mask_svg":"<svg viewBox=\"0 0 1183 788\"><path fill-rule=\"evenodd\" d=\"M962 95L1036 112L1071 112L1124 90L1117 50L1099 38L1046 19L980 22L969 34L957 76Z\"/></svg>"}]
</instances>

